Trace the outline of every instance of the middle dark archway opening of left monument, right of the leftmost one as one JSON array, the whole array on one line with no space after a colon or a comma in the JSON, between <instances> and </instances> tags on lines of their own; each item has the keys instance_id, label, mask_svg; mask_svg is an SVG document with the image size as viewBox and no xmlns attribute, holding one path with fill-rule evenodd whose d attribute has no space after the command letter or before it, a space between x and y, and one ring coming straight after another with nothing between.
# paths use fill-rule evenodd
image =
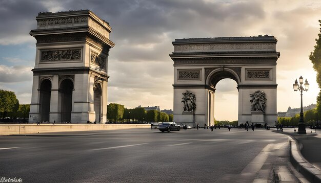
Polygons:
<instances>
[{"instance_id":1,"label":"middle dark archway opening of left monument, right of the leftmost one","mask_svg":"<svg viewBox=\"0 0 321 183\"><path fill-rule=\"evenodd\" d=\"M59 98L61 99L61 121L70 122L72 110L72 91L73 82L70 79L65 79L59 87Z\"/></svg>"}]
</instances>

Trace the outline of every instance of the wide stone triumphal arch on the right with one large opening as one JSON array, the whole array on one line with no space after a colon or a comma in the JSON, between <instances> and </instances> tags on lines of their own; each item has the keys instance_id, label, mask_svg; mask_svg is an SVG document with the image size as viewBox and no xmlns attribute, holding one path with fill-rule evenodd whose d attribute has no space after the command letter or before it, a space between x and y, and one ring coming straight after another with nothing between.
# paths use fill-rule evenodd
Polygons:
<instances>
[{"instance_id":1,"label":"wide stone triumphal arch on the right with one large opening","mask_svg":"<svg viewBox=\"0 0 321 183\"><path fill-rule=\"evenodd\" d=\"M237 83L238 124L274 125L276 42L268 35L175 39L174 121L213 125L216 84L230 78Z\"/></svg>"}]
</instances>

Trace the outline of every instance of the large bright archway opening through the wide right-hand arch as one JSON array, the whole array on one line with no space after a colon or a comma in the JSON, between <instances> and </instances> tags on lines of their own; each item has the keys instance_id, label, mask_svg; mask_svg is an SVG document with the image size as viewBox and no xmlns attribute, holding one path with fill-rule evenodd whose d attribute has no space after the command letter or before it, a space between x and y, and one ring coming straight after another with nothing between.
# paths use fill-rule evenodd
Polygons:
<instances>
[{"instance_id":1,"label":"large bright archway opening through the wide right-hand arch","mask_svg":"<svg viewBox=\"0 0 321 183\"><path fill-rule=\"evenodd\" d=\"M217 82L215 89L215 120L229 122L237 121L238 90L236 81L229 78L222 79Z\"/></svg>"}]
</instances>

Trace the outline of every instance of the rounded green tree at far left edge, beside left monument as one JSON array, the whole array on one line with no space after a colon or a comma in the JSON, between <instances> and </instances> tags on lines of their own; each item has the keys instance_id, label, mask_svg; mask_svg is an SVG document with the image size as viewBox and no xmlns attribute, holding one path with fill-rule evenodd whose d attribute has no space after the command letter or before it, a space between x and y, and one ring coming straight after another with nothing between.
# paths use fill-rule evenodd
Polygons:
<instances>
[{"instance_id":1,"label":"rounded green tree at far left edge, beside left monument","mask_svg":"<svg viewBox=\"0 0 321 183\"><path fill-rule=\"evenodd\" d=\"M16 112L18 110L19 101L13 91L0 89L0 112L2 118L7 117L8 112Z\"/></svg>"}]
</instances>

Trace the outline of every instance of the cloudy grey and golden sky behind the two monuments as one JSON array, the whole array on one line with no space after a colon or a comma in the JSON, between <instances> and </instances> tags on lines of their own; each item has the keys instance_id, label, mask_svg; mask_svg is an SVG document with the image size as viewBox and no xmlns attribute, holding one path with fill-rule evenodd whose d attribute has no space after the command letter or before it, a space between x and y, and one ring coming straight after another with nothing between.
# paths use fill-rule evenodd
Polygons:
<instances>
[{"instance_id":1,"label":"cloudy grey and golden sky behind the two monuments","mask_svg":"<svg viewBox=\"0 0 321 183\"><path fill-rule=\"evenodd\" d=\"M300 75L310 83L304 105L316 103L319 88L308 56L321 19L320 1L212 0L1 0L0 89L14 91L21 104L31 102L35 39L39 12L89 9L110 22L108 103L127 108L173 109L175 38L273 35L277 38L277 111L300 106L292 84ZM237 120L236 82L217 84L216 120ZM227 104L229 104L227 106ZM235 104L235 105L231 105Z\"/></svg>"}]
</instances>

